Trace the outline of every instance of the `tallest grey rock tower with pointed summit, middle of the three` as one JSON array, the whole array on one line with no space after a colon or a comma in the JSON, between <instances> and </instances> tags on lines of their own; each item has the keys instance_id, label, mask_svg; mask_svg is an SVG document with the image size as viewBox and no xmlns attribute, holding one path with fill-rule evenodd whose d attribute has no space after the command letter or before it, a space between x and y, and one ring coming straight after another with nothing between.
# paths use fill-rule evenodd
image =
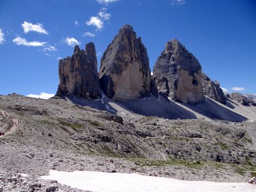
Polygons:
<instances>
[{"instance_id":1,"label":"tallest grey rock tower with pointed summit, middle of the three","mask_svg":"<svg viewBox=\"0 0 256 192\"><path fill-rule=\"evenodd\" d=\"M100 61L100 85L113 100L134 100L150 95L147 49L129 25L120 29Z\"/></svg>"}]
</instances>

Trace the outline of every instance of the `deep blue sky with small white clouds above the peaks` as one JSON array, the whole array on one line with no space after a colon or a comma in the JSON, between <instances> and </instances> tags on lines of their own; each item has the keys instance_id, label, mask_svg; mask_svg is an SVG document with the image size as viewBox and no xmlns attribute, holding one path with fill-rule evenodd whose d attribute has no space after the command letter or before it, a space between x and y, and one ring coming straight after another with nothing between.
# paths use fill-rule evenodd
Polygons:
<instances>
[{"instance_id":1,"label":"deep blue sky with small white clouds above the peaks","mask_svg":"<svg viewBox=\"0 0 256 192\"><path fill-rule=\"evenodd\" d=\"M221 87L256 93L254 0L0 0L0 94L56 93L59 58L94 42L100 65L124 24L141 36L151 70L177 38Z\"/></svg>"}]
</instances>

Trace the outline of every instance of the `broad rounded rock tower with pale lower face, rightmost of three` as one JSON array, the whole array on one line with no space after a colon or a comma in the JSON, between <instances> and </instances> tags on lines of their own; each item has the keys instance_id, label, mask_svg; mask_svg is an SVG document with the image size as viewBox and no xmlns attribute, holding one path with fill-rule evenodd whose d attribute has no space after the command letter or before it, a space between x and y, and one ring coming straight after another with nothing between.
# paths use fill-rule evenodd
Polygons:
<instances>
[{"instance_id":1,"label":"broad rounded rock tower with pale lower face, rightmost of three","mask_svg":"<svg viewBox=\"0 0 256 192\"><path fill-rule=\"evenodd\" d=\"M202 67L195 56L178 42L167 42L154 66L157 89L164 97L184 103L204 100Z\"/></svg>"}]
</instances>

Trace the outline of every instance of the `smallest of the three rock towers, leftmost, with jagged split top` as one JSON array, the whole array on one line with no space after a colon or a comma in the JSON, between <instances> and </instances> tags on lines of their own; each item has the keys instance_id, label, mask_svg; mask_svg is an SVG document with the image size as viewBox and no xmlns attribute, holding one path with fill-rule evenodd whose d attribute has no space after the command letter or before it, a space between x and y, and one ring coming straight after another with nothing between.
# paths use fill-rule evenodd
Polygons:
<instances>
[{"instance_id":1,"label":"smallest of the three rock towers, leftmost, with jagged split top","mask_svg":"<svg viewBox=\"0 0 256 192\"><path fill-rule=\"evenodd\" d=\"M80 50L76 45L74 54L59 62L60 84L56 95L76 95L86 99L101 98L97 58L93 43Z\"/></svg>"}]
</instances>

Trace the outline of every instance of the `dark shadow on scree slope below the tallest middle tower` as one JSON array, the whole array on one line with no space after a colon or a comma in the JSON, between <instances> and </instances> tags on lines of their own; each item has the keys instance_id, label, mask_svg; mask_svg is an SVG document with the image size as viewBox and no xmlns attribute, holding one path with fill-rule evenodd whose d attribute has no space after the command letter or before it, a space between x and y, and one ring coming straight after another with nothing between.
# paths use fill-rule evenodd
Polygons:
<instances>
[{"instance_id":1,"label":"dark shadow on scree slope below the tallest middle tower","mask_svg":"<svg viewBox=\"0 0 256 192\"><path fill-rule=\"evenodd\" d=\"M168 102L163 97L156 99L151 96L149 98L126 100L119 102L125 108L130 109L134 113L145 116L157 116L169 119L191 119L196 118L194 113L191 113L187 109L180 107L175 102Z\"/></svg>"}]
</instances>

